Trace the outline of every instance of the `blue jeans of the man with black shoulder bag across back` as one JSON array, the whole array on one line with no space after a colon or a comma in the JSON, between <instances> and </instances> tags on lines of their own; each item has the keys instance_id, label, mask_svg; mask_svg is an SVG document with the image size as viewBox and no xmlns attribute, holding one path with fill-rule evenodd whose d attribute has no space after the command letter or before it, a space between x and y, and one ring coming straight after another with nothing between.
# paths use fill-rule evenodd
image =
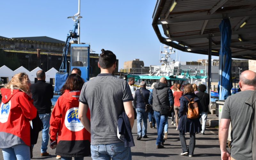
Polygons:
<instances>
[{"instance_id":1,"label":"blue jeans of the man with black shoulder bag across back","mask_svg":"<svg viewBox=\"0 0 256 160\"><path fill-rule=\"evenodd\" d=\"M157 125L156 145L160 145L161 142L164 142L164 139L163 139L164 125L166 123L166 119L168 119L168 116L161 116L161 114L156 111L154 111L154 114L155 114L156 125Z\"/></svg>"}]
</instances>

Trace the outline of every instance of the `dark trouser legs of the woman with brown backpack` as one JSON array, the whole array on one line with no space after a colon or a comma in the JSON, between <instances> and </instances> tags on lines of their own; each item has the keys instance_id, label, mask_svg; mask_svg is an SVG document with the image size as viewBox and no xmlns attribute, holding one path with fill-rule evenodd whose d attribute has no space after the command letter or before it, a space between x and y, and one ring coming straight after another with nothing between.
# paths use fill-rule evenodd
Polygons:
<instances>
[{"instance_id":1,"label":"dark trouser legs of the woman with brown backpack","mask_svg":"<svg viewBox=\"0 0 256 160\"><path fill-rule=\"evenodd\" d=\"M189 155L193 156L195 145L196 145L196 133L189 133L189 136L190 136L190 139L189 139L189 145L187 148L185 132L180 131L180 143L181 143L182 152L189 151Z\"/></svg>"}]
</instances>

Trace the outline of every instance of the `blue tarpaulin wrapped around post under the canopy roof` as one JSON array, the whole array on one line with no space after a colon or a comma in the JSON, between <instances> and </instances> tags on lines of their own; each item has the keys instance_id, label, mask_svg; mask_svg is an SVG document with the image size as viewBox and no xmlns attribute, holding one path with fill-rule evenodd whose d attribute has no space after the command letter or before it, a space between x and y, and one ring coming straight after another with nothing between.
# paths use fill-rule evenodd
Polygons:
<instances>
[{"instance_id":1,"label":"blue tarpaulin wrapped around post under the canopy roof","mask_svg":"<svg viewBox=\"0 0 256 160\"><path fill-rule=\"evenodd\" d=\"M220 81L218 85L219 100L226 100L231 95L232 77L231 77L231 25L229 19L223 19L219 25L220 40Z\"/></svg>"}]
</instances>

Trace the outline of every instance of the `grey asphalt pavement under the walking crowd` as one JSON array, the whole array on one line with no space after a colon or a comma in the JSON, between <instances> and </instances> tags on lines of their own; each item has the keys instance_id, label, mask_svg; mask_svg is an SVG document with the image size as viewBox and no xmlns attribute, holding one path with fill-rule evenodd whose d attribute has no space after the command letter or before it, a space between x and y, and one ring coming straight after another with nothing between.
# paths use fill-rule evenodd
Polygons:
<instances>
[{"instance_id":1,"label":"grey asphalt pavement under the walking crowd","mask_svg":"<svg viewBox=\"0 0 256 160\"><path fill-rule=\"evenodd\" d=\"M209 119L217 118L216 115L208 115L207 124L209 124ZM132 135L135 142L135 147L132 147L132 159L133 160L167 160L167 159L191 159L191 160L216 160L220 159L220 146L218 140L218 128L210 128L209 125L206 126L205 135L196 134L196 147L193 157L181 156L182 152L179 131L176 131L176 126L172 125L171 118L168 119L168 139L164 143L164 148L156 149L156 129L151 129L148 123L148 138L142 138L141 140L136 140L137 138L137 121L135 120L134 126L132 128ZM189 134L186 134L187 145L189 144ZM33 159L56 159L55 150L48 148L47 152L50 156L41 157L41 138L42 133L39 133L37 144L33 149ZM0 154L0 159L3 159L3 154ZM84 160L91 160L91 157L84 157Z\"/></svg>"}]
</instances>

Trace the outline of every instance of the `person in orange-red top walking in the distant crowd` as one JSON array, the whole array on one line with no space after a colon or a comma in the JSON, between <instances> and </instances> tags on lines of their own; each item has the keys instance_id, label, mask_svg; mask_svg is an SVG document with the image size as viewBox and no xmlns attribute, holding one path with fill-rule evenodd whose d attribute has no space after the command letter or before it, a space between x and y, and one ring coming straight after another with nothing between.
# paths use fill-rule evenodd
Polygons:
<instances>
[{"instance_id":1,"label":"person in orange-red top walking in the distant crowd","mask_svg":"<svg viewBox=\"0 0 256 160\"><path fill-rule=\"evenodd\" d=\"M176 90L173 92L174 98L174 112L175 112L175 122L176 122L176 130L178 130L179 126L179 110L180 110L180 97L183 95L183 92L180 91L180 84L175 83Z\"/></svg>"}]
</instances>

